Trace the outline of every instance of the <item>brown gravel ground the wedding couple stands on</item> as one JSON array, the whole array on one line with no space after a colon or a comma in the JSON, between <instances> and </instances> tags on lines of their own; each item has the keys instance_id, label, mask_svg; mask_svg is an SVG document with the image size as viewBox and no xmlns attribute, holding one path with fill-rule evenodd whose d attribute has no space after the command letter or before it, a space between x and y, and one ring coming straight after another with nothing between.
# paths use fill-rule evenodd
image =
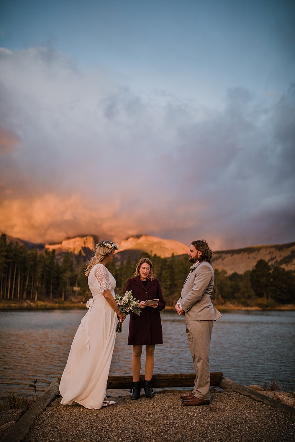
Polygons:
<instances>
[{"instance_id":1,"label":"brown gravel ground the wedding couple stands on","mask_svg":"<svg viewBox=\"0 0 295 442\"><path fill-rule=\"evenodd\" d=\"M212 391L211 404L185 407L183 391L153 399L114 398L115 406L88 410L55 399L37 417L25 442L54 441L295 441L295 417L232 390Z\"/></svg>"}]
</instances>

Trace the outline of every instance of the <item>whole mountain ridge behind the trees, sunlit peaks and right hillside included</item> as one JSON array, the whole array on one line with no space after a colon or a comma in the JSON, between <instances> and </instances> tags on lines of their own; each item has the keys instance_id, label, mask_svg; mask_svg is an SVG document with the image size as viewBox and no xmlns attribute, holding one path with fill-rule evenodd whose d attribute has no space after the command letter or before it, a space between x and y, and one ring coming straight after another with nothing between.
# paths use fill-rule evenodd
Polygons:
<instances>
[{"instance_id":1,"label":"whole mountain ridge behind the trees, sunlit peaks and right hillside included","mask_svg":"<svg viewBox=\"0 0 295 442\"><path fill-rule=\"evenodd\" d=\"M40 252L45 249L49 251L55 250L58 259L62 259L66 252L77 254L79 251L81 251L84 259L87 259L94 250L95 244L99 241L99 236L75 236L67 238L58 244L34 244L10 235L7 235L7 240L13 244L15 242L19 242L20 245L24 244L29 250L32 250L34 247ZM169 258L172 254L184 256L188 252L188 245L179 241L165 240L150 235L129 236L121 241L119 248L117 253L118 261L126 259L128 255L131 256L131 259L138 259L142 252L152 256L158 255L162 258ZM225 270L228 274L234 272L242 274L247 270L252 270L259 259L264 259L272 267L279 265L285 270L295 271L295 242L214 251L211 264L213 268L219 271Z\"/></svg>"}]
</instances>

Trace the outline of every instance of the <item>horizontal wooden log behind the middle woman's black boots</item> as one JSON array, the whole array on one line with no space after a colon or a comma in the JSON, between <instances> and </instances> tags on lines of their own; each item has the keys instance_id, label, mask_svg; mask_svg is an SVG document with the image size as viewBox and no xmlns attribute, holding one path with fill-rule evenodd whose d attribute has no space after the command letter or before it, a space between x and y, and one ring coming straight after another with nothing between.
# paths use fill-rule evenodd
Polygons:
<instances>
[{"instance_id":1,"label":"horizontal wooden log behind the middle woman's black boots","mask_svg":"<svg viewBox=\"0 0 295 442\"><path fill-rule=\"evenodd\" d=\"M210 385L218 385L222 372L210 373ZM144 375L140 376L139 381L143 388ZM175 373L175 374L153 374L152 384L155 388L167 387L193 387L195 373ZM109 376L107 380L107 389L129 389L132 384L132 376Z\"/></svg>"}]
</instances>

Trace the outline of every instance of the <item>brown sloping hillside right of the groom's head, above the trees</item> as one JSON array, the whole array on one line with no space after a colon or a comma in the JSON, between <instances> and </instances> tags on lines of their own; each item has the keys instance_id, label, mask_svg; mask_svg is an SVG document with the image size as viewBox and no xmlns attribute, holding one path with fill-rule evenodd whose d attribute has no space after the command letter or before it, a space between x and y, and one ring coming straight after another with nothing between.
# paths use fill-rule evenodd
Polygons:
<instances>
[{"instance_id":1,"label":"brown sloping hillside right of the groom's head, above the trees","mask_svg":"<svg viewBox=\"0 0 295 442\"><path fill-rule=\"evenodd\" d=\"M242 274L252 270L259 259L264 259L271 267L278 265L295 271L295 242L215 251L211 264L213 268L224 269L228 274Z\"/></svg>"}]
</instances>

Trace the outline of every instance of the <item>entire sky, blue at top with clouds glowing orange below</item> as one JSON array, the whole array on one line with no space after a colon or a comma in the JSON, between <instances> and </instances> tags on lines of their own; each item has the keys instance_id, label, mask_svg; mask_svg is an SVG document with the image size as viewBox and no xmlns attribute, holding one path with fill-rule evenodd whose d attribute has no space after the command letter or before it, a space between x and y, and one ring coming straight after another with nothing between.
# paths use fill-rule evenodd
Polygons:
<instances>
[{"instance_id":1,"label":"entire sky, blue at top with clouds glowing orange below","mask_svg":"<svg viewBox=\"0 0 295 442\"><path fill-rule=\"evenodd\" d=\"M0 231L295 240L295 4L0 0Z\"/></svg>"}]
</instances>

